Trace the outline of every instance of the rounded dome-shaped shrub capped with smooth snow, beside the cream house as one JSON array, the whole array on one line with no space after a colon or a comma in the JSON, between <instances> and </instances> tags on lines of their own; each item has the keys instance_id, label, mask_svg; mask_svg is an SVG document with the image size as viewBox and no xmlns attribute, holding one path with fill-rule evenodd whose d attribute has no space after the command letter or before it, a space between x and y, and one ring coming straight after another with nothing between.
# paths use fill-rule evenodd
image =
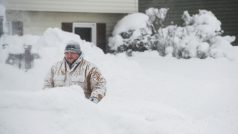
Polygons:
<instances>
[{"instance_id":1,"label":"rounded dome-shaped shrub capped with smooth snow, beside the cream house","mask_svg":"<svg viewBox=\"0 0 238 134\"><path fill-rule=\"evenodd\" d=\"M148 26L149 17L143 13L125 16L114 28L113 37L109 38L112 52L148 50L147 36L151 35Z\"/></svg>"}]
</instances>

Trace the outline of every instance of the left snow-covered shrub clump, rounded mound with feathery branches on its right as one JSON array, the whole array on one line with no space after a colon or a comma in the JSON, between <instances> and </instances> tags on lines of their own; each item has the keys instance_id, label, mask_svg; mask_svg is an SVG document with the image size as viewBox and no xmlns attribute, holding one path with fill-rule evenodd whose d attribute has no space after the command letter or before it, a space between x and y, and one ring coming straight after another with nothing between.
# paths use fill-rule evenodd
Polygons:
<instances>
[{"instance_id":1,"label":"left snow-covered shrub clump, rounded mound with feathery branches on its right","mask_svg":"<svg viewBox=\"0 0 238 134\"><path fill-rule=\"evenodd\" d=\"M149 8L146 10L146 15L134 13L125 16L116 25L113 31L113 35L115 36L109 38L111 50L124 52L154 49L154 46L157 45L153 41L150 41L152 39L150 36L158 33L157 29L162 26L167 11L167 8Z\"/></svg>"}]
</instances>

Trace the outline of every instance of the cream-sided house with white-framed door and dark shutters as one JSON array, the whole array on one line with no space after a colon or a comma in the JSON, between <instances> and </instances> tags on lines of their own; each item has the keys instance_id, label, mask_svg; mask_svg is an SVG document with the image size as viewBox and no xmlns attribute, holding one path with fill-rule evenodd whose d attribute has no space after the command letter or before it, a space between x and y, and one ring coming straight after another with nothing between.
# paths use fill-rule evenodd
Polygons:
<instances>
[{"instance_id":1,"label":"cream-sided house with white-framed door and dark shutters","mask_svg":"<svg viewBox=\"0 0 238 134\"><path fill-rule=\"evenodd\" d=\"M6 0L4 5L9 34L41 35L58 27L104 51L116 22L138 12L138 0Z\"/></svg>"}]
</instances>

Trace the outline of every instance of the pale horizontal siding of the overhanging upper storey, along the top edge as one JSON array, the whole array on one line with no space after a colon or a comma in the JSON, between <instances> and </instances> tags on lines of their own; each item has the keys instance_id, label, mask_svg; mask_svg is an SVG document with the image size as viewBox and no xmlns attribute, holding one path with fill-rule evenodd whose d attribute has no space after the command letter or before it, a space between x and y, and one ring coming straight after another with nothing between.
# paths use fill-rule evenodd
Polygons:
<instances>
[{"instance_id":1,"label":"pale horizontal siding of the overhanging upper storey, along the top edge","mask_svg":"<svg viewBox=\"0 0 238 134\"><path fill-rule=\"evenodd\" d=\"M138 12L138 0L7 0L6 8L23 11L133 13Z\"/></svg>"}]
</instances>

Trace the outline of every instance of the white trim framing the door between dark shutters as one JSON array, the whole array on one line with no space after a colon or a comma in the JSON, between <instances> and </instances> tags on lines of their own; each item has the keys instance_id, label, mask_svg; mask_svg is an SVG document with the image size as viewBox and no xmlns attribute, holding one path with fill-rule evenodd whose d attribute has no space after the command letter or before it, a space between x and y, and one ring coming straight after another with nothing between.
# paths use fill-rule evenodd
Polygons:
<instances>
[{"instance_id":1,"label":"white trim framing the door between dark shutters","mask_svg":"<svg viewBox=\"0 0 238 134\"><path fill-rule=\"evenodd\" d=\"M74 29L76 27L86 27L86 28L92 28L92 43L96 45L97 42L97 25L96 23L79 23L74 22L73 23L73 33L75 33Z\"/></svg>"}]
</instances>

